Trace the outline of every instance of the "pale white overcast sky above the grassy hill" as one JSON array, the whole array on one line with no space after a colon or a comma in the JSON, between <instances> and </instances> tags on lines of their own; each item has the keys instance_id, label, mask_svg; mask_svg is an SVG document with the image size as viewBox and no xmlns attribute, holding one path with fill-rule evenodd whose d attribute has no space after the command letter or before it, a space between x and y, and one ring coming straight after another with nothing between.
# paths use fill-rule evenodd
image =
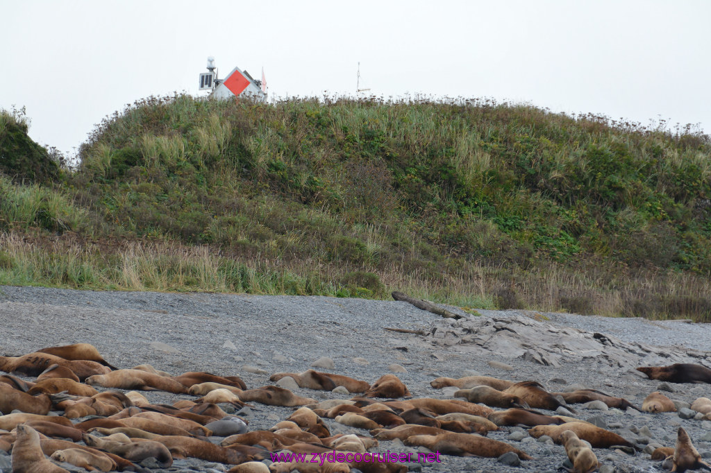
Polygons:
<instances>
[{"instance_id":1,"label":"pale white overcast sky above the grassy hill","mask_svg":"<svg viewBox=\"0 0 711 473\"><path fill-rule=\"evenodd\" d=\"M208 55L272 97L433 94L711 131L711 1L0 0L0 107L73 156L151 94L198 92Z\"/></svg>"}]
</instances>

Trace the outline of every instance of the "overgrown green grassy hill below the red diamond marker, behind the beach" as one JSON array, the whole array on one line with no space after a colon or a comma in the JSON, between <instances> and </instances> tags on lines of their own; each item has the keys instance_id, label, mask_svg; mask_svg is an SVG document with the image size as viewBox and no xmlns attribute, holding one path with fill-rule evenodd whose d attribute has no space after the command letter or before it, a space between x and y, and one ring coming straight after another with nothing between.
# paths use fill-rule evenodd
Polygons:
<instances>
[{"instance_id":1,"label":"overgrown green grassy hill below the red diamond marker, behind the beach","mask_svg":"<svg viewBox=\"0 0 711 473\"><path fill-rule=\"evenodd\" d=\"M80 159L55 185L0 180L0 283L711 318L711 141L689 127L151 97Z\"/></svg>"}]
</instances>

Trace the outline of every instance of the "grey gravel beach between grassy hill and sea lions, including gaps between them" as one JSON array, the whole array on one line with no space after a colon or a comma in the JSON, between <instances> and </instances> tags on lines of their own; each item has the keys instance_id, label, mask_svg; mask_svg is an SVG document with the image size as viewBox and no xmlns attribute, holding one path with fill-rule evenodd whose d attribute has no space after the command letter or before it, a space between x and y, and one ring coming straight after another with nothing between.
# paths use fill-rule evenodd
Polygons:
<instances>
[{"instance_id":1,"label":"grey gravel beach between grassy hill and sea lions, including gaps between them","mask_svg":"<svg viewBox=\"0 0 711 473\"><path fill-rule=\"evenodd\" d=\"M458 308L449 309L467 315ZM385 330L390 327L437 335L436 327L442 327L443 323L456 327L455 321L442 320L405 302L0 286L3 354L16 356L43 347L87 342L94 344L107 361L121 368L147 363L171 374L210 371L237 375L245 380L248 388L272 384L269 375L279 371L304 371L314 361L325 357L333 361L333 368L321 368L321 371L368 382L402 368L404 371L396 374L414 397L451 398L451 391L434 389L429 382L437 376L459 378L468 374L513 381L540 381L549 391L565 391L575 386L597 388L612 396L627 398L635 406L641 406L648 393L661 389L677 403L680 413L650 414L633 409L623 412L574 407L578 418L592 418L594 423L606 425L639 447L655 443L673 447L676 430L683 426L702 457L711 457L711 422L696 420L693 413L691 418L685 418L688 413L683 411L696 398L711 397L711 385L662 384L627 367L638 361L670 364L678 359L711 366L708 357L711 354L707 353L711 352L710 325L521 310L479 312L479 316L467 317L476 323L490 321L503 325L506 325L506 319L532 320L535 323L530 330L547 330L549 338L550 333L569 327L609 336L611 344L616 344L615 340L619 339L638 344L634 347L641 349L635 348L640 353L634 357L631 354L626 364L616 364L610 362L609 357L568 354L565 349L557 350L553 343L538 347L555 352L560 361L546 365L530 357L513 355L501 344L496 344L496 349L488 349L486 344L476 345L474 351L466 343L442 344L434 336ZM585 338L590 339L592 335ZM541 340L548 338L542 337ZM663 349L649 352L639 344ZM634 352L627 345L624 349ZM668 354L673 355L672 361L665 361L670 359ZM319 401L348 397L302 388L294 391ZM151 392L146 393L146 397L150 401L166 403L181 396ZM246 417L250 420L250 430L259 430L287 418L291 411L292 408L255 404ZM333 420L325 422L332 433L367 434L365 430L340 425ZM550 441L540 442L521 428L502 428L488 436L509 442L534 460L521 462L517 467L503 464L496 458L441 456L440 463L410 464L411 471L554 472L566 459L563 447L552 445ZM386 450L418 451L398 441L381 442L377 451ZM650 455L645 452L629 455L609 449L594 451L602 463L602 472L662 471L661 463L650 460ZM1 462L0 468L4 469ZM204 462L190 461L178 462L171 471L210 469L221 471L225 468L220 464L206 466Z\"/></svg>"}]
</instances>

